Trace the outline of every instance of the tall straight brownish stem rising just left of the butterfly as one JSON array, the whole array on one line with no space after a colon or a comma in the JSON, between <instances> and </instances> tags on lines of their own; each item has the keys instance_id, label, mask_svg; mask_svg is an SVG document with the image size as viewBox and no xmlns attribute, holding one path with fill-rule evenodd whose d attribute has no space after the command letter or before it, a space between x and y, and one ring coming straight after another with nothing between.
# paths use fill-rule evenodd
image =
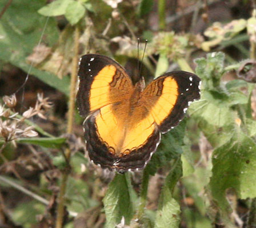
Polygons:
<instances>
[{"instance_id":1,"label":"tall straight brownish stem rising just left of the butterfly","mask_svg":"<svg viewBox=\"0 0 256 228\"><path fill-rule=\"evenodd\" d=\"M73 131L73 121L74 121L74 107L75 107L75 92L77 83L77 66L78 66L78 47L79 47L79 29L78 25L75 26L75 38L74 38L74 58L72 62L72 72L71 72L71 85L70 85L70 96L69 96L69 112L67 115L67 133L71 134ZM71 150L66 149L65 157L67 162L70 161ZM56 228L62 228L63 216L64 216L64 205L65 205L65 193L66 184L69 177L69 172L63 172L62 182L59 190L58 197L58 207L57 207L57 221Z\"/></svg>"}]
</instances>

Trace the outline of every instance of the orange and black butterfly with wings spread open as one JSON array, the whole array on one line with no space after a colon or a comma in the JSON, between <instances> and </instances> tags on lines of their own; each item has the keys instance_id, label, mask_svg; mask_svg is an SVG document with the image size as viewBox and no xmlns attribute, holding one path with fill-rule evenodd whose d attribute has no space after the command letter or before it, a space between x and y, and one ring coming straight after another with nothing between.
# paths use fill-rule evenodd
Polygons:
<instances>
[{"instance_id":1,"label":"orange and black butterfly with wings spread open","mask_svg":"<svg viewBox=\"0 0 256 228\"><path fill-rule=\"evenodd\" d=\"M200 98L201 80L185 71L168 72L145 87L133 84L126 70L103 55L79 62L78 109L91 161L126 172L145 167L161 140Z\"/></svg>"}]
</instances>

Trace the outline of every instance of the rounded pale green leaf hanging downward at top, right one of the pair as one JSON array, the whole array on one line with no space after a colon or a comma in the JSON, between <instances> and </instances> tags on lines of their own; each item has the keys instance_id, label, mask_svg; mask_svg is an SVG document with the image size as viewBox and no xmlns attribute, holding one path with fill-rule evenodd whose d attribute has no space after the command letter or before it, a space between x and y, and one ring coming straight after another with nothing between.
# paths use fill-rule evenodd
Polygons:
<instances>
[{"instance_id":1,"label":"rounded pale green leaf hanging downward at top, right one of the pair","mask_svg":"<svg viewBox=\"0 0 256 228\"><path fill-rule=\"evenodd\" d=\"M71 25L75 25L85 15L85 7L77 1L71 1L67 6L65 17Z\"/></svg>"}]
</instances>

